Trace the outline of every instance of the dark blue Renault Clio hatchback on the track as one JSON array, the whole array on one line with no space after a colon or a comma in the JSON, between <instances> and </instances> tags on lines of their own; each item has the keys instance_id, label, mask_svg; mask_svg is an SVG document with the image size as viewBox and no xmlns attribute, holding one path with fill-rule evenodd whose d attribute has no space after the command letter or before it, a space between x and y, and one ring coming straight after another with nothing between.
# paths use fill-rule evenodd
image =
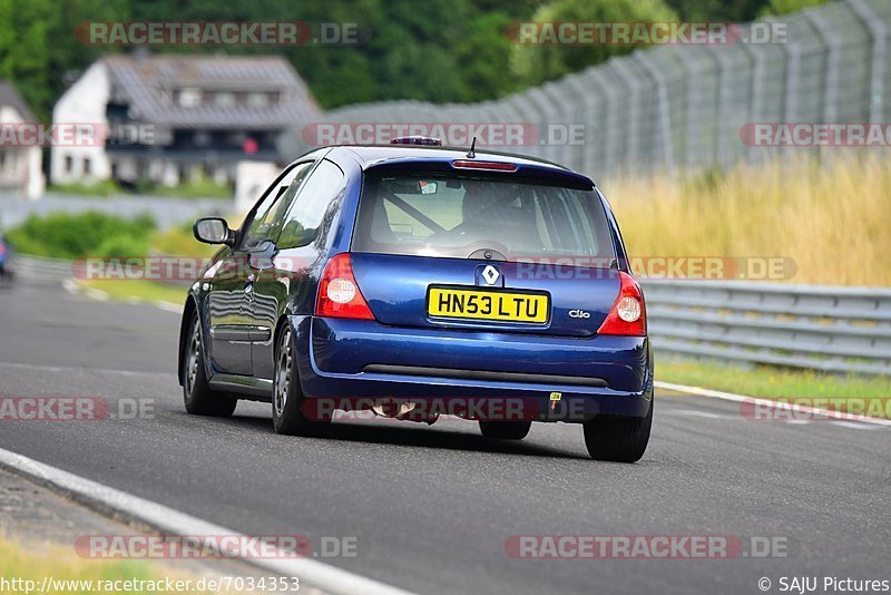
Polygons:
<instances>
[{"instance_id":1,"label":"dark blue Renault Clio hatchback on the track","mask_svg":"<svg viewBox=\"0 0 891 595\"><path fill-rule=\"evenodd\" d=\"M288 165L193 284L179 342L190 413L272 403L323 435L335 410L477 421L519 440L584 426L636 461L653 420L646 309L595 184L558 165L437 146L335 146Z\"/></svg>"}]
</instances>

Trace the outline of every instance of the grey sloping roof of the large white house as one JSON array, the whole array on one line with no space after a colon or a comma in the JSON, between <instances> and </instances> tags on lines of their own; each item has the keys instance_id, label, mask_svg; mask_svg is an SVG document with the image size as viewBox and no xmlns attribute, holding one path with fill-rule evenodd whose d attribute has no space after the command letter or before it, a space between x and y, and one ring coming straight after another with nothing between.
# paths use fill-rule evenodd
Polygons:
<instances>
[{"instance_id":1,"label":"grey sloping roof of the large white house","mask_svg":"<svg viewBox=\"0 0 891 595\"><path fill-rule=\"evenodd\" d=\"M306 84L280 56L106 56L111 97L126 104L133 119L175 128L277 129L317 117ZM265 107L244 101L231 107L202 101L185 107L174 91L277 94Z\"/></svg>"}]
</instances>

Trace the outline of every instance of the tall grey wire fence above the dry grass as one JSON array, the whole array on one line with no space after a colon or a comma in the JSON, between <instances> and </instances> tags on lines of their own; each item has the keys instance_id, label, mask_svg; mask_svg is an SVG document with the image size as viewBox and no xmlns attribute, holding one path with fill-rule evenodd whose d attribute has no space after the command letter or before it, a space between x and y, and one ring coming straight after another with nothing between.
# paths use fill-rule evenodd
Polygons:
<instances>
[{"instance_id":1,"label":"tall grey wire fence above the dry grass","mask_svg":"<svg viewBox=\"0 0 891 595\"><path fill-rule=\"evenodd\" d=\"M825 153L753 145L746 133L753 124L891 120L891 1L843 0L744 25L740 37L751 39L765 23L783 23L785 39L639 49L498 100L365 104L323 114L319 123L519 123L538 135L506 149L603 177ZM307 126L290 135L290 153L323 144ZM551 134L555 126L582 134L566 140Z\"/></svg>"}]
</instances>

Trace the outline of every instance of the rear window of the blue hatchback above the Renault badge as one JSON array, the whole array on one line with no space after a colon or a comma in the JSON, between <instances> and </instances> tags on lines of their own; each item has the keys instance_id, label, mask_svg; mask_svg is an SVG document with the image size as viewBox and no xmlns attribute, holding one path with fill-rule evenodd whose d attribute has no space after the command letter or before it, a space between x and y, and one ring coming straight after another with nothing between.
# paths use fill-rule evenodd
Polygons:
<instances>
[{"instance_id":1,"label":"rear window of the blue hatchback above the Renault badge","mask_svg":"<svg viewBox=\"0 0 891 595\"><path fill-rule=\"evenodd\" d=\"M614 259L594 191L443 174L371 173L353 252L467 259L496 250L508 260Z\"/></svg>"}]
</instances>

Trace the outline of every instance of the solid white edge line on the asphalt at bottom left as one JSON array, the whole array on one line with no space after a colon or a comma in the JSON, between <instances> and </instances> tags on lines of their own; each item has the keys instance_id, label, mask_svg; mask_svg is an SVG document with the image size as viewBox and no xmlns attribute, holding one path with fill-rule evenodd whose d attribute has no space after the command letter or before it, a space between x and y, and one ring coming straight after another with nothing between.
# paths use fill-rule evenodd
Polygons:
<instances>
[{"instance_id":1,"label":"solid white edge line on the asphalt at bottom left","mask_svg":"<svg viewBox=\"0 0 891 595\"><path fill-rule=\"evenodd\" d=\"M238 531L214 525L167 506L69 474L2 448L0 448L0 465L38 482L49 484L70 494L76 500L97 507L101 511L124 514L172 535L238 536L239 538L247 538L247 536ZM295 576L301 582L305 581L306 586L319 587L334 594L411 595L410 592L314 559L286 558L284 552L277 558L239 558L239 560L281 575Z\"/></svg>"}]
</instances>

